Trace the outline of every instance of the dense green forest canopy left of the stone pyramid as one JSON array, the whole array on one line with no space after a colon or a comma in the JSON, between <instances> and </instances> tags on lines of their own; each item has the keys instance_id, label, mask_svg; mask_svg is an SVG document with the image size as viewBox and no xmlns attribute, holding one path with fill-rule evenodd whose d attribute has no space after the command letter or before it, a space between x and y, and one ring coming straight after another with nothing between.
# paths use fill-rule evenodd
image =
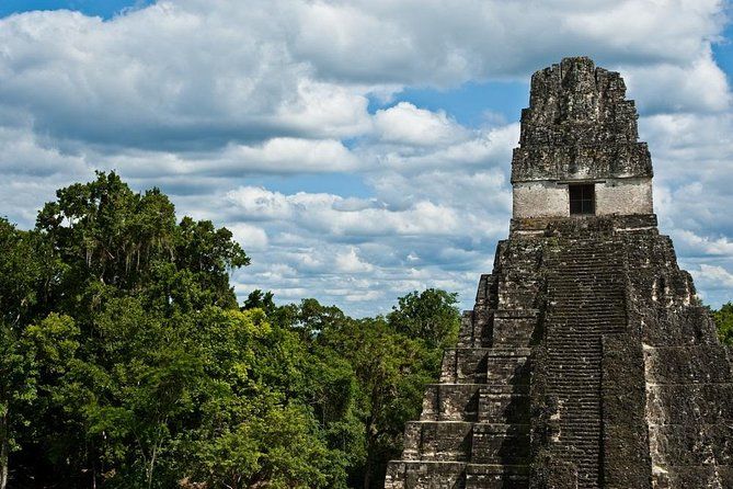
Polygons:
<instances>
[{"instance_id":1,"label":"dense green forest canopy left of the stone pyramid","mask_svg":"<svg viewBox=\"0 0 733 489\"><path fill-rule=\"evenodd\" d=\"M115 174L0 219L0 487L380 487L458 331L456 296L354 319L240 307L249 258Z\"/></svg>"}]
</instances>

